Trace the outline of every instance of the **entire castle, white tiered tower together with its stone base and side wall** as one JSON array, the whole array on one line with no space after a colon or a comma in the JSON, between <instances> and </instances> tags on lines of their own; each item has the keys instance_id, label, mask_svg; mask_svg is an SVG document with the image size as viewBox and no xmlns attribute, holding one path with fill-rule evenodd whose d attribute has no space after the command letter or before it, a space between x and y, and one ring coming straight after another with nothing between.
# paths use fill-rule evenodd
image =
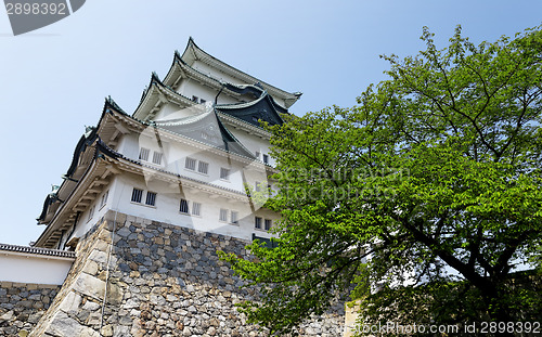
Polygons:
<instances>
[{"instance_id":1,"label":"entire castle, white tiered tower together with its stone base and side wall","mask_svg":"<svg viewBox=\"0 0 542 337\"><path fill-rule=\"evenodd\" d=\"M250 258L253 239L270 243L276 169L261 122L282 124L299 96L190 39L132 115L106 99L46 198L34 247L0 245L41 269L52 256L69 267L53 285L30 272L0 280L0 337L267 336L235 308L258 287L244 287L217 251ZM308 317L300 336L340 336L341 311Z\"/></svg>"}]
</instances>

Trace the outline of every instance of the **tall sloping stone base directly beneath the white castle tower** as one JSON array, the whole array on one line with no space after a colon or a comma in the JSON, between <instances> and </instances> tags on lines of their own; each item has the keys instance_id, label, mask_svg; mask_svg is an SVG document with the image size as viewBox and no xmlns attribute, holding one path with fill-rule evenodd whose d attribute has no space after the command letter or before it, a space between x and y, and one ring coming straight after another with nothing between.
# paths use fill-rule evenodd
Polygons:
<instances>
[{"instance_id":1,"label":"tall sloping stone base directly beneath the white castle tower","mask_svg":"<svg viewBox=\"0 0 542 337\"><path fill-rule=\"evenodd\" d=\"M247 256L246 242L120 213L115 222L108 218L81 239L70 274L30 336L268 335L234 307L256 298L257 289L241 289L216 254ZM330 314L300 333L341 336L343 326L341 313Z\"/></svg>"}]
</instances>

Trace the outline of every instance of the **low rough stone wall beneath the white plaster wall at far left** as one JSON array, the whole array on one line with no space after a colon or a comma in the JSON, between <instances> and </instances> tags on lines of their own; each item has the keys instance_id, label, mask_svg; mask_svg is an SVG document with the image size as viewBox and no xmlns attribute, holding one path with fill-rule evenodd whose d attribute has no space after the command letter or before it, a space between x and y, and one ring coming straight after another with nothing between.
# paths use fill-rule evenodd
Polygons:
<instances>
[{"instance_id":1,"label":"low rough stone wall beneath the white plaster wall at far left","mask_svg":"<svg viewBox=\"0 0 542 337\"><path fill-rule=\"evenodd\" d=\"M61 286L0 282L0 336L27 336Z\"/></svg>"}]
</instances>

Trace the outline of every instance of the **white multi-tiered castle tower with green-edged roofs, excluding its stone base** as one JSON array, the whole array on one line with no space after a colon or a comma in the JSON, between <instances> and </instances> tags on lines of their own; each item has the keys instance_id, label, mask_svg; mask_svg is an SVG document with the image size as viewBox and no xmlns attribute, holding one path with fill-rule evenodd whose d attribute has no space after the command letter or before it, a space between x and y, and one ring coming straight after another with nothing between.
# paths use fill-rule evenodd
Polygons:
<instances>
[{"instance_id":1,"label":"white multi-tiered castle tower with green-edged roofs, excluding its stone base","mask_svg":"<svg viewBox=\"0 0 542 337\"><path fill-rule=\"evenodd\" d=\"M270 134L300 93L215 59L191 38L160 80L152 75L130 116L111 98L48 195L37 247L73 249L109 210L230 235L268 238L276 215L249 189L272 190Z\"/></svg>"}]
</instances>

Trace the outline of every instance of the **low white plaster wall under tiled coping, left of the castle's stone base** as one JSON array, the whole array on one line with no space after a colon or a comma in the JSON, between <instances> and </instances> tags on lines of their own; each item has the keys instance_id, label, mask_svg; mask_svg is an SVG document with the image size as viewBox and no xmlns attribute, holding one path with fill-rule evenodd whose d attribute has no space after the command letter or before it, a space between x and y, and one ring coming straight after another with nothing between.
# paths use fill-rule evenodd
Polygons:
<instances>
[{"instance_id":1,"label":"low white plaster wall under tiled coping, left of the castle's stone base","mask_svg":"<svg viewBox=\"0 0 542 337\"><path fill-rule=\"evenodd\" d=\"M72 263L70 259L0 251L0 281L61 285Z\"/></svg>"}]
</instances>

